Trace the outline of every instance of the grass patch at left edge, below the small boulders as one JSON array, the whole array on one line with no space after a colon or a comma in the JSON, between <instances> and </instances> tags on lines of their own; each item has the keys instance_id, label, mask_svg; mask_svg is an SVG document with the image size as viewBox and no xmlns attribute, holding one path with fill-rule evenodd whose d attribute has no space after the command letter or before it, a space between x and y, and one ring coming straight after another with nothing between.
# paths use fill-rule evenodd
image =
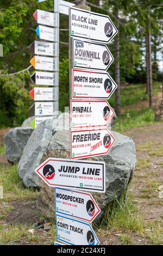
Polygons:
<instances>
[{"instance_id":1,"label":"grass patch at left edge, below the small boulders","mask_svg":"<svg viewBox=\"0 0 163 256\"><path fill-rule=\"evenodd\" d=\"M12 199L36 198L39 192L34 188L27 188L23 185L17 173L17 165L5 167L0 165L0 185L3 186L3 202Z\"/></svg>"}]
</instances>

